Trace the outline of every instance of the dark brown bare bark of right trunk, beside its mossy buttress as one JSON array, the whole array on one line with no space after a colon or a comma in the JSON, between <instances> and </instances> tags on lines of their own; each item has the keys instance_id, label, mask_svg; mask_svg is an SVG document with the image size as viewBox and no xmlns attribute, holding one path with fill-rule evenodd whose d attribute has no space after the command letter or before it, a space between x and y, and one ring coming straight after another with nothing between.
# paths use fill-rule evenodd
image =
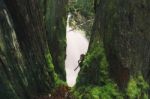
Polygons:
<instances>
[{"instance_id":1,"label":"dark brown bare bark of right trunk, beside its mossy buttress","mask_svg":"<svg viewBox=\"0 0 150 99\"><path fill-rule=\"evenodd\" d=\"M130 75L150 76L150 1L95 0L95 28L101 34L110 74L120 88Z\"/></svg>"}]
</instances>

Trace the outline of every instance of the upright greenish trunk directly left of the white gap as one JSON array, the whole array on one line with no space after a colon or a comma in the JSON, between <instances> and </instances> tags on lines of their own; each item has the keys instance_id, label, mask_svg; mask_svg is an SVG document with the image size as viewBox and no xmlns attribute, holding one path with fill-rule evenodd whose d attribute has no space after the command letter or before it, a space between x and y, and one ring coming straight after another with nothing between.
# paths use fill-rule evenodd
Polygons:
<instances>
[{"instance_id":1,"label":"upright greenish trunk directly left of the white gap","mask_svg":"<svg viewBox=\"0 0 150 99\"><path fill-rule=\"evenodd\" d=\"M66 57L66 20L68 0L48 0L43 2L46 7L44 20L46 24L47 39L52 61L58 76L65 80Z\"/></svg>"}]
</instances>

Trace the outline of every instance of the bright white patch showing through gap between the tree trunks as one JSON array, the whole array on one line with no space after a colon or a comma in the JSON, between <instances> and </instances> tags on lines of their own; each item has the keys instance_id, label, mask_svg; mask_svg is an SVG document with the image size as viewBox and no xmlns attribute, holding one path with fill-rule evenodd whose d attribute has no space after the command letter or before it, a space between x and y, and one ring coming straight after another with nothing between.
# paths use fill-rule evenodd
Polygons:
<instances>
[{"instance_id":1,"label":"bright white patch showing through gap between the tree trunks","mask_svg":"<svg viewBox=\"0 0 150 99\"><path fill-rule=\"evenodd\" d=\"M81 30L72 30L69 26L71 14L68 14L67 19L67 49L66 49L66 60L65 60L65 69L66 69L66 79L67 84L70 87L73 87L76 83L76 78L80 68L76 71L74 69L78 66L78 60L80 59L81 54L85 54L88 49L88 40L85 37L85 32Z\"/></svg>"}]
</instances>

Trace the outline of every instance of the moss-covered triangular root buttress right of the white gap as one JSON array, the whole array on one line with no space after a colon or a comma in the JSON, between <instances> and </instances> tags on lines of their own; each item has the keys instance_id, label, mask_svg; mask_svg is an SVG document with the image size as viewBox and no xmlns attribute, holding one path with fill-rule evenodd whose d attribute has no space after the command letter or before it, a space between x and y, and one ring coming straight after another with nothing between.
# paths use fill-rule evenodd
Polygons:
<instances>
[{"instance_id":1,"label":"moss-covered triangular root buttress right of the white gap","mask_svg":"<svg viewBox=\"0 0 150 99\"><path fill-rule=\"evenodd\" d=\"M89 85L100 87L110 81L103 41L94 25L88 52L78 74L76 88Z\"/></svg>"}]
</instances>

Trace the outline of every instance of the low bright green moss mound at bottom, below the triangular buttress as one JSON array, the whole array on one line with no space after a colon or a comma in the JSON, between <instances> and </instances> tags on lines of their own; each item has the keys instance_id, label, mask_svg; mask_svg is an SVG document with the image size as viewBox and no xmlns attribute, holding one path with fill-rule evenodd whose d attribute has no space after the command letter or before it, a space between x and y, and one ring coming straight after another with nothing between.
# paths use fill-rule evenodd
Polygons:
<instances>
[{"instance_id":1,"label":"low bright green moss mound at bottom, below the triangular buttress","mask_svg":"<svg viewBox=\"0 0 150 99\"><path fill-rule=\"evenodd\" d=\"M74 96L77 99L123 99L123 95L113 82L104 86L82 86L74 90Z\"/></svg>"}]
</instances>

